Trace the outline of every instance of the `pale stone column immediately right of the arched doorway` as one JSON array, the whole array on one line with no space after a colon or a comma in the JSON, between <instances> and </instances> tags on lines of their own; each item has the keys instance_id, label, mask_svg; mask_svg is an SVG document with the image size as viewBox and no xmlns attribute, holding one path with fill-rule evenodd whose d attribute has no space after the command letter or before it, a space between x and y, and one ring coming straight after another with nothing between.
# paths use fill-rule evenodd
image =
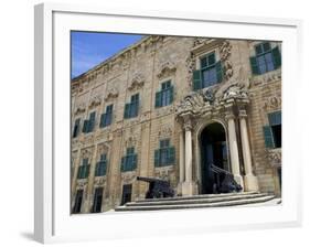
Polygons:
<instances>
[{"instance_id":1,"label":"pale stone column immediately right of the arched doorway","mask_svg":"<svg viewBox=\"0 0 310 247\"><path fill-rule=\"evenodd\" d=\"M231 154L231 167L234 174L234 179L238 184L244 187L243 178L240 175L240 165L239 165L239 154L238 154L238 143L236 137L236 126L235 126L235 116L233 112L226 115L228 121L228 142L229 142L229 154Z\"/></svg>"}]
</instances>

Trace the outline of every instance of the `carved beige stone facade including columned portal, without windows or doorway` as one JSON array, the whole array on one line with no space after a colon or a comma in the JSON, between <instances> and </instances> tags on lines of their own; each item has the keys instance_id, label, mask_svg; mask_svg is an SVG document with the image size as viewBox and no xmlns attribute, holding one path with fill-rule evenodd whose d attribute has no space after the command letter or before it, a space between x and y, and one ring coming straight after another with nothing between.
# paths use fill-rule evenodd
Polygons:
<instances>
[{"instance_id":1,"label":"carved beige stone facade including columned portal, without windows or doorway","mask_svg":"<svg viewBox=\"0 0 310 247\"><path fill-rule=\"evenodd\" d=\"M79 128L72 138L72 206L78 190L83 190L82 213L94 208L98 187L103 187L101 211L121 203L124 185L131 184L132 201L141 198L147 185L137 182L137 175L169 180L179 194L202 193L202 135L212 124L223 128L225 169L244 190L280 195L281 149L265 147L263 127L268 124L268 114L281 109L281 69L253 75L249 57L257 43L150 35L74 78L72 130L76 119ZM280 43L272 42L275 45L280 47ZM223 80L193 90L193 72L209 53L221 62ZM173 100L156 107L156 94L167 80L173 85ZM125 104L133 94L139 94L138 115L125 119ZM109 105L111 124L100 127ZM90 112L96 114L94 128L83 132ZM156 167L154 150L164 139L174 147L174 161ZM137 163L132 171L121 171L128 148L135 148ZM107 154L107 168L99 176L95 171L103 153ZM88 159L89 174L79 179L84 158Z\"/></svg>"}]
</instances>

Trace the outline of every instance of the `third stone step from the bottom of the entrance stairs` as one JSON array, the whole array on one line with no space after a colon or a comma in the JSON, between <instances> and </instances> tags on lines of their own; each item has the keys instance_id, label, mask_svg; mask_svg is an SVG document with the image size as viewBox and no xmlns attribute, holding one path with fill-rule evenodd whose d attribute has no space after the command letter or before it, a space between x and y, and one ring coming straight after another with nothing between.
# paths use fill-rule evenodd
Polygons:
<instances>
[{"instance_id":1,"label":"third stone step from the bottom of the entrance stairs","mask_svg":"<svg viewBox=\"0 0 310 247\"><path fill-rule=\"evenodd\" d=\"M259 194L259 192L238 192L238 193L223 193L223 194L201 194L201 195L188 195L188 196L175 196L175 197L164 197L164 198L143 198L137 200L136 202L162 202L162 201L178 201L178 200L196 200L196 198L215 198L215 197L226 197L232 195L249 195Z\"/></svg>"}]
</instances>

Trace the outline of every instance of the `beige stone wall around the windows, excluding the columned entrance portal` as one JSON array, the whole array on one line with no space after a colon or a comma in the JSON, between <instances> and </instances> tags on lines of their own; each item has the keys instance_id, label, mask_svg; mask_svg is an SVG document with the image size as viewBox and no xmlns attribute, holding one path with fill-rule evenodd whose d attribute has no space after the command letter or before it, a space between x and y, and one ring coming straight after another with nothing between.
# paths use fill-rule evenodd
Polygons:
<instances>
[{"instance_id":1,"label":"beige stone wall around the windows, excluding the columned entrance portal","mask_svg":"<svg viewBox=\"0 0 310 247\"><path fill-rule=\"evenodd\" d=\"M147 191L147 184L136 182L137 175L169 179L177 187L181 125L177 121L175 108L192 92L192 72L199 68L199 57L210 51L215 51L225 67L225 78L217 93L222 90L223 94L235 82L242 83L248 89L248 132L254 172L261 192L279 194L278 179L275 168L267 159L268 151L264 146L261 128L266 124L266 112L281 107L280 103L274 103L280 101L281 74L278 69L252 76L249 55L254 44L255 42L235 40L225 43L214 39L147 36L73 79L72 129L75 119L81 118L83 122L89 118L92 111L96 111L96 124L93 132L79 131L78 137L72 139L72 205L76 191L82 189L82 212L88 213L95 187L103 186L103 211L108 211L119 205L122 185L129 183L132 183L131 200L141 198ZM174 100L169 106L154 108L156 92L168 79L174 86ZM140 95L139 115L124 119L125 104L137 93ZM114 104L113 124L99 128L100 115L110 104ZM175 163L154 168L154 150L159 148L159 140L164 138L170 138L175 148ZM121 157L125 155L127 147L135 147L138 164L135 171L121 173ZM95 165L103 150L108 153L107 173L103 178L94 178ZM88 179L77 180L83 157L89 157L90 172ZM200 164L194 162L193 165ZM196 176L195 171L193 176Z\"/></svg>"}]
</instances>

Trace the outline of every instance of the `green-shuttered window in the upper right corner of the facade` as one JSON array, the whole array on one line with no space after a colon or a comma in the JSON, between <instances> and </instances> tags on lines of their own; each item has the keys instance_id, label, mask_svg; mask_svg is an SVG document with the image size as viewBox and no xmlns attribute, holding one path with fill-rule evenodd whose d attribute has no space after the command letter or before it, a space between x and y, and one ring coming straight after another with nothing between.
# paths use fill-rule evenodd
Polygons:
<instances>
[{"instance_id":1,"label":"green-shuttered window in the upper right corner of the facade","mask_svg":"<svg viewBox=\"0 0 310 247\"><path fill-rule=\"evenodd\" d=\"M250 57L250 67L254 75L271 72L281 66L281 54L279 47L271 49L269 42L255 46L255 56Z\"/></svg>"}]
</instances>

